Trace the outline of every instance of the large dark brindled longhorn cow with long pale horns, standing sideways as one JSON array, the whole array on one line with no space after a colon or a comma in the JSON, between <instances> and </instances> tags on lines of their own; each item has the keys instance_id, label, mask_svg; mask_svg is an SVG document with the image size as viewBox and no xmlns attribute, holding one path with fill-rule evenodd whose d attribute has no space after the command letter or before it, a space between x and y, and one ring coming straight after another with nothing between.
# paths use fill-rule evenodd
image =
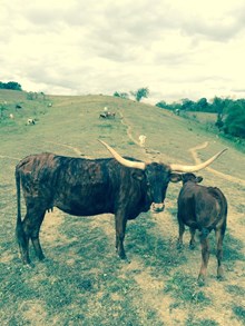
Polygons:
<instances>
[{"instance_id":1,"label":"large dark brindled longhorn cow with long pale horns, standing sideways","mask_svg":"<svg viewBox=\"0 0 245 326\"><path fill-rule=\"evenodd\" d=\"M224 151L196 166L165 165L126 159L100 142L114 158L85 159L45 152L28 156L17 165L16 234L23 264L30 263L29 239L38 258L45 258L39 231L46 211L53 207L75 216L114 214L117 253L126 259L127 220L148 211L151 204L155 211L163 210L169 181L179 181L179 172L205 168ZM26 201L23 220L21 188Z\"/></svg>"}]
</instances>

